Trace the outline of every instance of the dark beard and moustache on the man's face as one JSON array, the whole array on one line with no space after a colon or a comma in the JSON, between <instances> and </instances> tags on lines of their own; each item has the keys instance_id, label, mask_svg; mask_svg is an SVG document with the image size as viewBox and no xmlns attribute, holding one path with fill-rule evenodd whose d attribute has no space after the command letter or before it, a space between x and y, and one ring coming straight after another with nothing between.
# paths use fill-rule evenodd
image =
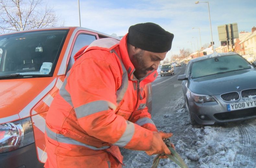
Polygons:
<instances>
[{"instance_id":1,"label":"dark beard and moustache on the man's face","mask_svg":"<svg viewBox=\"0 0 256 168\"><path fill-rule=\"evenodd\" d=\"M141 50L140 52L133 55L133 64L135 67L134 75L137 79L144 78L148 71L154 70L154 68L149 67L147 68L144 61L143 61L144 51Z\"/></svg>"}]
</instances>

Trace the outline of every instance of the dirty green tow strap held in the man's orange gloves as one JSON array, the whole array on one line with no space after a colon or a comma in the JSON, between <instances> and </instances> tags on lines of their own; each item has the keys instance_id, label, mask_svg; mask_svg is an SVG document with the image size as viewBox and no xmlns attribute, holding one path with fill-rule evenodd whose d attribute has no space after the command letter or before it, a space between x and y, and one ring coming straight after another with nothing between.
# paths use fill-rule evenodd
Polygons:
<instances>
[{"instance_id":1,"label":"dirty green tow strap held in the man's orange gloves","mask_svg":"<svg viewBox=\"0 0 256 168\"><path fill-rule=\"evenodd\" d=\"M188 168L188 166L186 165L186 163L183 161L183 159L180 157L179 153L177 153L172 147L171 147L171 142L170 139L165 139L164 140L165 144L168 146L169 150L171 151L171 154L165 154L166 156L169 157L170 160L172 160L173 162L175 162L176 164L178 164L181 168ZM157 168L159 162L160 162L160 158L159 156L161 156L163 154L158 154L153 161L153 165L151 168Z\"/></svg>"}]
</instances>

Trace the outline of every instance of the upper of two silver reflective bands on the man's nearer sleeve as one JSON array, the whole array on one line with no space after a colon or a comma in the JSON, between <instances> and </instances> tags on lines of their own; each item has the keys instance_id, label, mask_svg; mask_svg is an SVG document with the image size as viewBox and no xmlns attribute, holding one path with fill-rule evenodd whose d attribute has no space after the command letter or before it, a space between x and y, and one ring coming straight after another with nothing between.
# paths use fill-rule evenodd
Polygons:
<instances>
[{"instance_id":1,"label":"upper of two silver reflective bands on the man's nearer sleeve","mask_svg":"<svg viewBox=\"0 0 256 168\"><path fill-rule=\"evenodd\" d=\"M109 109L115 110L116 106L113 103L105 100L92 101L75 108L76 118L79 119L87 115Z\"/></svg>"}]
</instances>

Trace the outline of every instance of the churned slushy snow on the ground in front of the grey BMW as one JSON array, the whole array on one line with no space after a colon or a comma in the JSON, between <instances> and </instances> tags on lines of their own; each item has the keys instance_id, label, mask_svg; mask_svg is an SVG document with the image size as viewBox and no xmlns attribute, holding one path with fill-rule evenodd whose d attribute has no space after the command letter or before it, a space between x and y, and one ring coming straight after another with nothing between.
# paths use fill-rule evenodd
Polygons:
<instances>
[{"instance_id":1,"label":"churned slushy snow on the ground in front of the grey BMW","mask_svg":"<svg viewBox=\"0 0 256 168\"><path fill-rule=\"evenodd\" d=\"M192 127L183 98L176 101L176 107L163 107L159 110L163 110L165 115L152 119L159 131L173 132L170 140L189 168L255 168L256 120ZM124 168L152 166L155 155L148 156L141 151L130 152L135 156L124 159ZM161 159L158 167L179 166L169 159Z\"/></svg>"}]
</instances>

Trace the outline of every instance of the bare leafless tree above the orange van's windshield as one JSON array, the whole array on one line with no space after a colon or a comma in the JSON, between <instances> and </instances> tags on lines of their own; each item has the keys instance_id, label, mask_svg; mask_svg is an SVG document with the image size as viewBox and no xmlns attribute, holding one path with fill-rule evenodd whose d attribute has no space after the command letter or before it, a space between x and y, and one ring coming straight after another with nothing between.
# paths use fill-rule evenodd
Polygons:
<instances>
[{"instance_id":1,"label":"bare leafless tree above the orange van's windshield","mask_svg":"<svg viewBox=\"0 0 256 168\"><path fill-rule=\"evenodd\" d=\"M59 18L42 0L0 0L0 32L56 26Z\"/></svg>"}]
</instances>

